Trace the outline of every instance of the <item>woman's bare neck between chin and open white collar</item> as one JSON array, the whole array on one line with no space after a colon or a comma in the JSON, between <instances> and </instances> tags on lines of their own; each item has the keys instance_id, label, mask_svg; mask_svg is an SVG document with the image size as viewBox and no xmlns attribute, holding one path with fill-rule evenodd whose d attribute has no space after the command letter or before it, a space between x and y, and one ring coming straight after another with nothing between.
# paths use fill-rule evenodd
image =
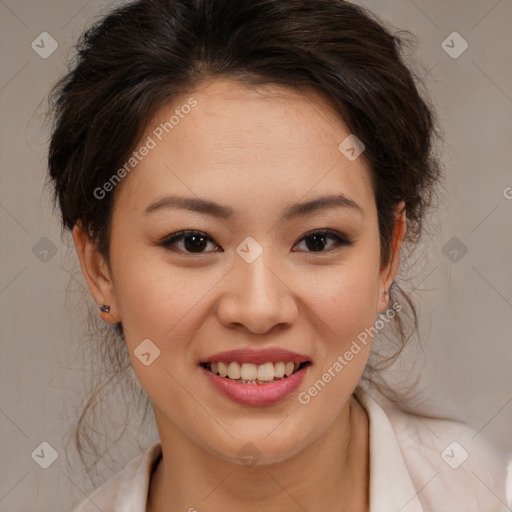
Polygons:
<instances>
[{"instance_id":1,"label":"woman's bare neck between chin and open white collar","mask_svg":"<svg viewBox=\"0 0 512 512\"><path fill-rule=\"evenodd\" d=\"M157 424L159 411L155 408ZM164 434L164 435L162 435ZM174 429L160 432L148 512L368 510L368 417L351 397L320 438L275 464L243 466L219 459Z\"/></svg>"}]
</instances>

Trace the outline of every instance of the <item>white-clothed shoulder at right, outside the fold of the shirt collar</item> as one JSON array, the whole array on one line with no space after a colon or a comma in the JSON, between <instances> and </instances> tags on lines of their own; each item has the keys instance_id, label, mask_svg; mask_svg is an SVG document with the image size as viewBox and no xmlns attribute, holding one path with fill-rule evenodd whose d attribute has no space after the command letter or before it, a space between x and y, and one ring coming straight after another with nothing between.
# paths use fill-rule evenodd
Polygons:
<instances>
[{"instance_id":1,"label":"white-clothed shoulder at right, outside the fold of the shirt collar","mask_svg":"<svg viewBox=\"0 0 512 512\"><path fill-rule=\"evenodd\" d=\"M482 432L390 404L374 406L381 408L391 424L425 512L509 510L507 457Z\"/></svg>"}]
</instances>

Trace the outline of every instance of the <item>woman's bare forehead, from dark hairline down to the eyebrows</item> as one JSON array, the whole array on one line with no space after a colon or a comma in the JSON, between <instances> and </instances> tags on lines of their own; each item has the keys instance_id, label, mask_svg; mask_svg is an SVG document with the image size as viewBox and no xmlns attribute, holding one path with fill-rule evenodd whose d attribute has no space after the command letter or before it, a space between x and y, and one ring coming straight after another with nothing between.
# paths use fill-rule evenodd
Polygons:
<instances>
[{"instance_id":1,"label":"woman's bare forehead, from dark hairline down to the eyebrows","mask_svg":"<svg viewBox=\"0 0 512 512\"><path fill-rule=\"evenodd\" d=\"M334 187L364 203L371 195L364 155L349 161L338 149L349 135L312 89L213 80L156 112L137 146L149 137L154 147L123 193L132 202L178 191L226 203L248 195L279 202L283 194L298 200Z\"/></svg>"}]
</instances>

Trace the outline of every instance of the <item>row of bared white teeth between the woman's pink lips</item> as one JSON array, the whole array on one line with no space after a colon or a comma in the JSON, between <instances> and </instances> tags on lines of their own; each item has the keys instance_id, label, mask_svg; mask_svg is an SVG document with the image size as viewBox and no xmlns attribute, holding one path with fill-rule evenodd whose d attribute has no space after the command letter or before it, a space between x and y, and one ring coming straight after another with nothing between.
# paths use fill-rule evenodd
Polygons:
<instances>
[{"instance_id":1,"label":"row of bared white teeth between the woman's pink lips","mask_svg":"<svg viewBox=\"0 0 512 512\"><path fill-rule=\"evenodd\" d=\"M241 384L269 384L287 379L302 368L309 366L310 361L293 363L291 361L266 362L264 364L238 363L226 361L218 363L201 363L201 366L215 375Z\"/></svg>"}]
</instances>

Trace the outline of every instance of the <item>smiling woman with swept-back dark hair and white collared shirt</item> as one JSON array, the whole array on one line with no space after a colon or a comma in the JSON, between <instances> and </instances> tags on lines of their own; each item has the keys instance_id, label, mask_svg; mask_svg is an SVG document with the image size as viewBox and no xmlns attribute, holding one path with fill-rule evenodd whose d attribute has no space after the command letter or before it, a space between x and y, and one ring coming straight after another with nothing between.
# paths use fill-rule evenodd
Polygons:
<instances>
[{"instance_id":1,"label":"smiling woman with swept-back dark hair and white collared shirt","mask_svg":"<svg viewBox=\"0 0 512 512\"><path fill-rule=\"evenodd\" d=\"M507 510L474 432L360 386L414 327L395 278L440 177L400 48L341 0L142 0L84 34L50 176L160 440L77 511Z\"/></svg>"}]
</instances>

